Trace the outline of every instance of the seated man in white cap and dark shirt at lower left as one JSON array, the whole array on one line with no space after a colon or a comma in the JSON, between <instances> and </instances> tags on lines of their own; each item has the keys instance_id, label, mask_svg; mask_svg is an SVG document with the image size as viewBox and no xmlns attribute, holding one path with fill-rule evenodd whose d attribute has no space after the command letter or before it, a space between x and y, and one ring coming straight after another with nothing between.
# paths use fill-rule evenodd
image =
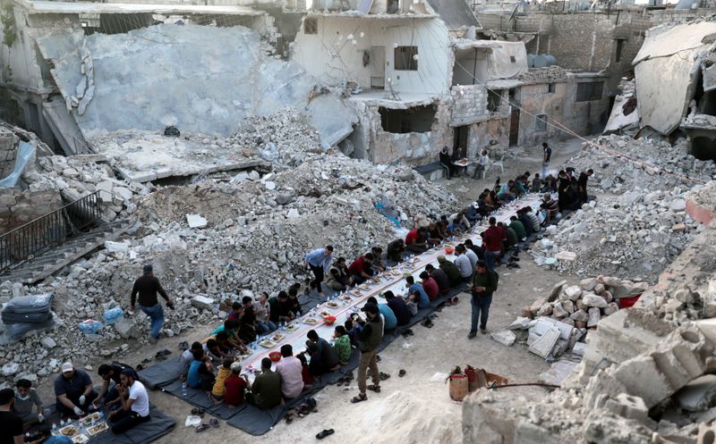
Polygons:
<instances>
[{"instance_id":1,"label":"seated man in white cap and dark shirt at lower left","mask_svg":"<svg viewBox=\"0 0 716 444\"><path fill-rule=\"evenodd\" d=\"M92 390L90 375L75 369L71 362L62 364L62 374L55 379L55 408L62 415L85 415L97 393Z\"/></svg>"}]
</instances>

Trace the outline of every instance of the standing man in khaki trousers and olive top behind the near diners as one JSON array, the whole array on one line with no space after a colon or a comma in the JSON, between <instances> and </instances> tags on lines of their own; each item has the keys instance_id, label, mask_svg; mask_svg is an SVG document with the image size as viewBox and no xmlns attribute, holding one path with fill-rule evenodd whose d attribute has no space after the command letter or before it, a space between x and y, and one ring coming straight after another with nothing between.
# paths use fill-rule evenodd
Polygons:
<instances>
[{"instance_id":1,"label":"standing man in khaki trousers and olive top behind the near diners","mask_svg":"<svg viewBox=\"0 0 716 444\"><path fill-rule=\"evenodd\" d=\"M365 390L380 393L380 373L375 356L378 354L380 342L383 341L383 318L379 315L378 306L370 302L363 306L362 312L366 315L366 323L363 325L358 339L358 348L361 350L361 358L358 361L358 390L360 393L351 399L354 404L368 399ZM358 320L354 318L353 323L354 326L357 326ZM369 367L373 383L366 386L365 373Z\"/></svg>"}]
</instances>

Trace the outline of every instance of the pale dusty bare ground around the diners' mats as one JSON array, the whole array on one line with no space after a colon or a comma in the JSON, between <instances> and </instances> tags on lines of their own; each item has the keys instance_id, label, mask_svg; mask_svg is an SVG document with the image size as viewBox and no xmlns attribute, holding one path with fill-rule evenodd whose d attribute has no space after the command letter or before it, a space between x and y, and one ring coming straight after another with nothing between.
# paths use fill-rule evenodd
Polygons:
<instances>
[{"instance_id":1,"label":"pale dusty bare ground around the diners' mats","mask_svg":"<svg viewBox=\"0 0 716 444\"><path fill-rule=\"evenodd\" d=\"M568 141L554 144L552 165L557 168L578 151L580 141ZM539 172L541 168L541 150L528 151L519 161L507 161L503 180L515 177L518 172ZM482 188L494 183L495 172L491 172L485 180L460 178L443 180L461 202L472 202ZM508 271L501 268L498 294L493 300L490 311L488 329L496 331L507 327L519 314L520 307L531 304L541 297L552 285L562 279L575 279L571 276L559 276L556 272L548 272L539 268L527 255L522 255L521 268ZM273 431L261 437L250 435L227 426L223 421L218 429L210 429L197 435L194 429L183 427L183 421L189 414L191 406L170 395L161 392L150 392L151 401L166 414L175 417L175 431L158 440L159 443L194 443L200 438L207 444L224 443L227 440L240 442L315 442L315 434L323 429L334 429L335 435L327 442L390 442L391 444L408 444L416 442L461 442L462 441L462 409L459 403L450 400L447 384L444 381L430 381L436 373L449 373L455 365L472 364L486 368L492 373L507 376L510 381L536 381L537 375L548 369L549 365L540 357L529 353L524 345L516 344L506 348L491 340L488 336L478 335L473 340L466 339L470 323L470 306L467 295L463 295L458 306L446 307L439 313L435 325L427 329L420 325L413 327L415 335L408 339L396 339L380 356L379 368L382 372L392 375L381 385L383 391L370 394L369 401L352 405L349 400L356 389L345 391L344 387L329 386L321 390L315 398L318 401L318 414L305 418L297 418L294 423L278 423ZM142 348L121 360L129 364L139 364L146 356L154 356L161 348L178 353L177 344L183 340L192 341L202 338L212 326L204 331L194 329L182 335L162 339L157 346ZM96 369L99 362L93 362ZM398 378L400 369L405 369L404 378ZM91 371L93 379L96 371ZM51 381L45 381L41 393L46 402L51 399ZM544 395L545 391L537 388L516 388L534 398Z\"/></svg>"}]
</instances>

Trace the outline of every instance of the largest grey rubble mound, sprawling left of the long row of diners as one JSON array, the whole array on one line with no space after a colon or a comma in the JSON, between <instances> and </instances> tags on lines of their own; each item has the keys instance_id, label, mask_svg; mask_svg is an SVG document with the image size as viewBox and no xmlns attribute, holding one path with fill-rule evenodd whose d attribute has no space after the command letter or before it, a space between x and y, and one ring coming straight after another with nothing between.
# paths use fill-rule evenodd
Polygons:
<instances>
[{"instance_id":1,"label":"largest grey rubble mound, sprawling left of the long row of diners","mask_svg":"<svg viewBox=\"0 0 716 444\"><path fill-rule=\"evenodd\" d=\"M148 340L146 316L126 313L132 283L143 264L153 264L175 301L175 310L165 312L166 334L180 334L194 325L219 323L218 302L225 293L276 294L291 282L303 283L308 277L303 256L312 248L331 243L337 247L336 256L352 259L402 237L375 209L376 203L394 212L406 228L413 227L416 216L457 209L455 197L411 168L327 154L306 121L277 126L284 117L279 113L275 119L256 118L242 126L245 132L233 136L251 141L259 151L276 140L273 172L217 172L189 185L144 186L110 175L107 163L40 159L41 170L30 172L34 182L44 180L53 187L64 182L62 189L78 194L99 187L110 193L109 208L116 217L126 215L138 223L124 238L107 242L105 249L32 288L33 293L54 294L55 311L64 322L54 331L30 333L13 348L0 350L0 365L18 364L20 372L33 369L33 377L44 378L65 360L83 364L89 356L121 356L129 349L129 340ZM283 141L290 133L295 144ZM263 141L257 140L259 135ZM107 181L112 184L109 191L100 185ZM132 197L124 199L124 190L117 188L132 191ZM189 228L186 214L200 214L206 227ZM0 291L10 297L29 289L7 281ZM117 304L125 310L122 320L105 325L98 335L78 330L78 323L87 319L101 322L107 309ZM48 348L48 341L38 347L43 338L52 339L55 347Z\"/></svg>"}]
</instances>

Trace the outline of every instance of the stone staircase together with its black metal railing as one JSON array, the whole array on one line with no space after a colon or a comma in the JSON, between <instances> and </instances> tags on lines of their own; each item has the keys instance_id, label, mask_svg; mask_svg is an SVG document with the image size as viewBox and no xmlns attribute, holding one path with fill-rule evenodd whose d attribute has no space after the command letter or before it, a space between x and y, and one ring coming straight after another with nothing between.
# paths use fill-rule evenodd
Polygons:
<instances>
[{"instance_id":1,"label":"stone staircase together with its black metal railing","mask_svg":"<svg viewBox=\"0 0 716 444\"><path fill-rule=\"evenodd\" d=\"M101 207L96 192L0 235L0 281L45 279L131 225L103 222Z\"/></svg>"}]
</instances>

